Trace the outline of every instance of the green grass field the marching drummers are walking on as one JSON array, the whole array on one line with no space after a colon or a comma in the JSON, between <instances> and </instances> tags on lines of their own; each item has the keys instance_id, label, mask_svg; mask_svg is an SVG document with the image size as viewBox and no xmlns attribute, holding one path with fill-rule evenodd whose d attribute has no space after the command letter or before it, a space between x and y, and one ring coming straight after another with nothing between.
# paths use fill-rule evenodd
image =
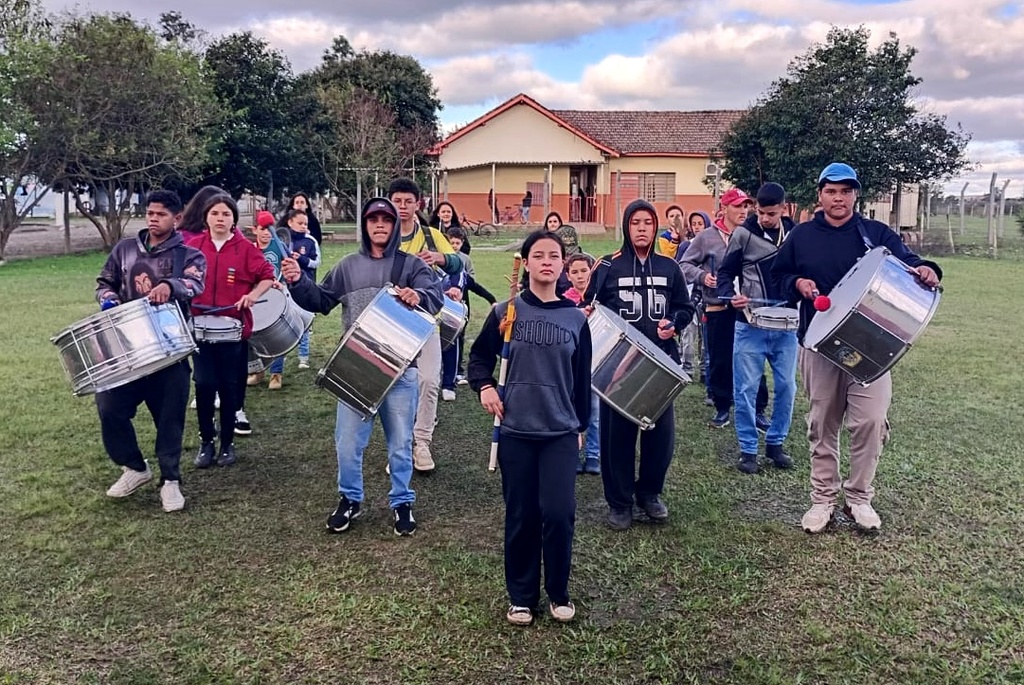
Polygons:
<instances>
[{"instance_id":1,"label":"green grass field the marching drummers are walking on","mask_svg":"<svg viewBox=\"0 0 1024 685\"><path fill-rule=\"evenodd\" d=\"M326 252L333 263L342 250ZM509 253L473 256L505 292ZM734 434L705 427L691 387L676 408L670 522L607 529L600 480L583 477L579 619L517 630L504 619L488 421L466 389L440 405L437 472L415 479L416 536L391 532L379 430L368 514L324 532L334 400L312 378L337 315L316 322L313 371L292 356L284 390L250 389L255 433L239 439L238 465L193 469L189 414L184 512L164 514L155 487L105 498L118 471L93 402L72 397L48 341L95 310L102 259L0 269L0 683L1024 682L1017 261L943 260L939 312L894 374L881 534L799 529L802 397L797 468L748 477L732 468ZM136 425L152 451L144 409Z\"/></svg>"}]
</instances>

